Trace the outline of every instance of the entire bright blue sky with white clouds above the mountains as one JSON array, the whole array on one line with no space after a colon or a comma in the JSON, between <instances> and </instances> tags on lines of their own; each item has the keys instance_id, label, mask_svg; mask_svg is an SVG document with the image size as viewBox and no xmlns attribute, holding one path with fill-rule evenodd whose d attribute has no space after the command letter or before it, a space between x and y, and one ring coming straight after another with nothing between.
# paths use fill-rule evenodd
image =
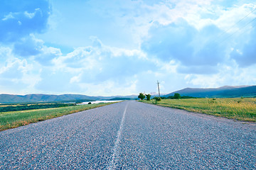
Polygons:
<instances>
[{"instance_id":1,"label":"entire bright blue sky with white clouds above the mountains","mask_svg":"<svg viewBox=\"0 0 256 170\"><path fill-rule=\"evenodd\" d=\"M0 94L256 84L254 0L1 0Z\"/></svg>"}]
</instances>

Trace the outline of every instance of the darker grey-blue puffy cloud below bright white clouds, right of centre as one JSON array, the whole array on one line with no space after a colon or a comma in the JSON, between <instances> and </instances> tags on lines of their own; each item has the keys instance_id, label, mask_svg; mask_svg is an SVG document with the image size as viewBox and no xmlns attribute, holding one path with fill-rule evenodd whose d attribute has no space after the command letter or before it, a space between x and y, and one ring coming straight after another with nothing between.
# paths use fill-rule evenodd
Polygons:
<instances>
[{"instance_id":1,"label":"darker grey-blue puffy cloud below bright white clouds, right of centre","mask_svg":"<svg viewBox=\"0 0 256 170\"><path fill-rule=\"evenodd\" d=\"M142 50L163 61L176 60L185 67L216 66L225 57L225 45L213 41L218 33L216 26L196 30L184 20L168 26L157 24L149 30L150 38L142 43Z\"/></svg>"}]
</instances>

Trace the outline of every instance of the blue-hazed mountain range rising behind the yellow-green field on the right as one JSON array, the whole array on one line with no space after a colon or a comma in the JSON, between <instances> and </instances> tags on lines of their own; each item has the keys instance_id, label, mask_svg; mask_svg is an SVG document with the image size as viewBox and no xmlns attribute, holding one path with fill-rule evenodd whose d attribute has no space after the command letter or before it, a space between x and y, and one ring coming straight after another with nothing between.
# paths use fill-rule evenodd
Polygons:
<instances>
[{"instance_id":1,"label":"blue-hazed mountain range rising behind the yellow-green field on the right","mask_svg":"<svg viewBox=\"0 0 256 170\"><path fill-rule=\"evenodd\" d=\"M179 91L174 91L171 94L166 94L165 97L174 96L174 94L181 94L181 96L192 96L199 98L233 98L233 97L255 97L256 86L222 86L219 88L195 89L186 88Z\"/></svg>"}]
</instances>

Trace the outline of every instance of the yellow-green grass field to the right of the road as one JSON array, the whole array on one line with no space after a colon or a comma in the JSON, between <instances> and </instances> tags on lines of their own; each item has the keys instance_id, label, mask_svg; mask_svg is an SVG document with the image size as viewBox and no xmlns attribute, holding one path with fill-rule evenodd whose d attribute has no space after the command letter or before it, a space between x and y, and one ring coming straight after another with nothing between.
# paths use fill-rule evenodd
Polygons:
<instances>
[{"instance_id":1,"label":"yellow-green grass field to the right of the road","mask_svg":"<svg viewBox=\"0 0 256 170\"><path fill-rule=\"evenodd\" d=\"M155 101L143 102L156 103ZM256 98L164 99L157 102L157 105L256 122Z\"/></svg>"}]
</instances>

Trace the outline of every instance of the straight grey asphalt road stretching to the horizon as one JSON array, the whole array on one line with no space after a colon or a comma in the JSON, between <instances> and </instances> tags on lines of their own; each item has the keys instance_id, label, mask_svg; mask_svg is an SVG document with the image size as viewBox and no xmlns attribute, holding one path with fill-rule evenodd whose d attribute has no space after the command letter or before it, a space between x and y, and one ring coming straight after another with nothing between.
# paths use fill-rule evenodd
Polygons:
<instances>
[{"instance_id":1,"label":"straight grey asphalt road stretching to the horizon","mask_svg":"<svg viewBox=\"0 0 256 170\"><path fill-rule=\"evenodd\" d=\"M256 169L256 125L124 101L0 132L0 169Z\"/></svg>"}]
</instances>

